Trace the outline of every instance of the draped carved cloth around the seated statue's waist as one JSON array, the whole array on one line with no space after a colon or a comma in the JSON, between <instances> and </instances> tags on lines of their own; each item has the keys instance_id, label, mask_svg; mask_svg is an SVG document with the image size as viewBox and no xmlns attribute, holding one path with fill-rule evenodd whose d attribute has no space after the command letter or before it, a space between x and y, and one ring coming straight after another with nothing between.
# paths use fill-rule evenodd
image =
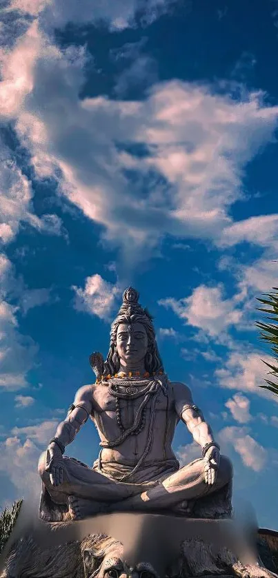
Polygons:
<instances>
[{"instance_id":1,"label":"draped carved cloth around the seated statue's waist","mask_svg":"<svg viewBox=\"0 0 278 578\"><path fill-rule=\"evenodd\" d=\"M106 477L121 482L121 479L128 475L128 482L130 484L154 484L162 481L168 475L179 470L179 462L175 458L164 460L161 462L152 460L152 462L145 462L141 467L132 474L134 465L119 464L117 462L101 462L101 459L96 460L93 464L93 469L99 471ZM130 475L131 474L131 475Z\"/></svg>"}]
</instances>

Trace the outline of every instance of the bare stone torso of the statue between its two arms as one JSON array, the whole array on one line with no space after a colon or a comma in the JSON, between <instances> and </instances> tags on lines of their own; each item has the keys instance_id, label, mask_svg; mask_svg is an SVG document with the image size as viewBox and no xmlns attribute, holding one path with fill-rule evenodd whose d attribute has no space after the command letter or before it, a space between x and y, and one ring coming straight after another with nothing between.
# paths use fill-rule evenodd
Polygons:
<instances>
[{"instance_id":1,"label":"bare stone torso of the statue between its two arms","mask_svg":"<svg viewBox=\"0 0 278 578\"><path fill-rule=\"evenodd\" d=\"M146 380L146 384L147 384ZM119 391L126 391L124 386L119 387ZM145 384L145 386L146 386ZM137 387L138 391L144 386ZM152 445L144 464L150 462L164 462L175 458L172 451L172 439L179 417L175 412L172 386L169 384L166 390L160 387L156 395L155 409L152 422ZM93 413L92 420L97 426L101 442L112 442L117 439L122 431L117 422L116 399L109 392L106 384L95 384L92 390ZM121 411L121 424L124 429L130 428L135 422L135 415L143 396L137 399L120 399L119 407ZM146 405L145 425L136 435L129 435L126 440L115 448L103 448L101 461L117 462L119 464L135 465L146 448L149 435L149 424L151 419L152 396Z\"/></svg>"}]
</instances>

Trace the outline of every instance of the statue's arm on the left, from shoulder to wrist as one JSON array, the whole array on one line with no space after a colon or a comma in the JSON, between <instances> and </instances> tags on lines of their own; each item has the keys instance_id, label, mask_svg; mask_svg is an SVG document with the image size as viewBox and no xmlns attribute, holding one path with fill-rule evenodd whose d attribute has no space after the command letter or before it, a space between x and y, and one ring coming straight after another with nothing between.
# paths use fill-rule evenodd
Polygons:
<instances>
[{"instance_id":1,"label":"statue's arm on the left, from shoulder to wrist","mask_svg":"<svg viewBox=\"0 0 278 578\"><path fill-rule=\"evenodd\" d=\"M65 448L73 442L81 426L92 414L92 395L92 385L85 385L77 391L75 401L70 406L67 417L57 427L54 435L57 442L51 442L50 445L61 444L60 447Z\"/></svg>"}]
</instances>

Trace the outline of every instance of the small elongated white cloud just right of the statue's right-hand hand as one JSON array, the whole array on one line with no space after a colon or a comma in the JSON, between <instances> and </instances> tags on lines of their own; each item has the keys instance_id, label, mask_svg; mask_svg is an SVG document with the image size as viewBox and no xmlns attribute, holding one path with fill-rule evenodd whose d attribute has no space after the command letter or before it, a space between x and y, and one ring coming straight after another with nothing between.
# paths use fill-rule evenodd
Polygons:
<instances>
[{"instance_id":1,"label":"small elongated white cloud just right of the statue's right-hand hand","mask_svg":"<svg viewBox=\"0 0 278 578\"><path fill-rule=\"evenodd\" d=\"M259 472L264 468L268 452L248 434L246 428L226 427L219 432L218 437L219 442L224 444L224 446L233 446L247 468L251 468L255 472Z\"/></svg>"}]
</instances>

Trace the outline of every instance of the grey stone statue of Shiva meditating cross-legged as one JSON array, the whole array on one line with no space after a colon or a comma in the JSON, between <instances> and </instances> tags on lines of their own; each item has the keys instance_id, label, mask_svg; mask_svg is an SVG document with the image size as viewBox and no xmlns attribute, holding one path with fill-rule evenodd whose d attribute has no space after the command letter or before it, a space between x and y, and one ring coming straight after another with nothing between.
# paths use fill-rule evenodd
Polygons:
<instances>
[{"instance_id":1,"label":"grey stone statue of Shiva meditating cross-legged","mask_svg":"<svg viewBox=\"0 0 278 578\"><path fill-rule=\"evenodd\" d=\"M232 464L188 386L168 380L152 317L138 299L132 287L123 293L106 361L90 356L95 383L77 391L39 459L39 515L48 522L130 511L231 516ZM63 455L88 418L101 440L92 468ZM172 451L179 420L201 446L201 457L182 467Z\"/></svg>"}]
</instances>

